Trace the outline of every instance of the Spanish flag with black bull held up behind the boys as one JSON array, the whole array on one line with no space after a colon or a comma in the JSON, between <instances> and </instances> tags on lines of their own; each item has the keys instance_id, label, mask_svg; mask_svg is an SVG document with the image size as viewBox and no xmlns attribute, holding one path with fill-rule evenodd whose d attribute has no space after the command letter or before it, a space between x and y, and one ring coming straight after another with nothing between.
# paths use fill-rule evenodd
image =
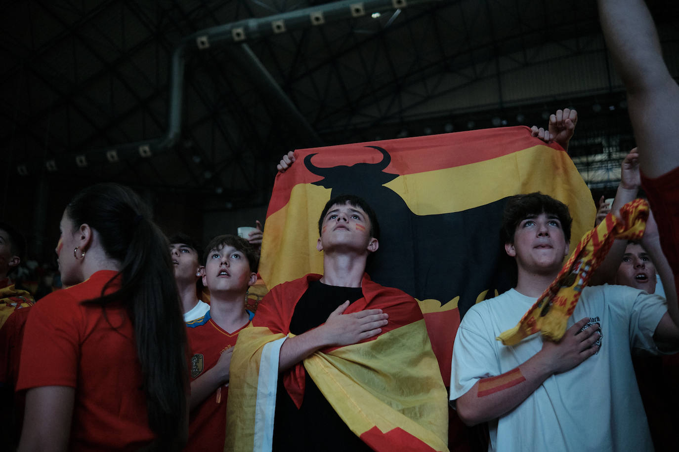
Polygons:
<instances>
[{"instance_id":1,"label":"Spanish flag with black bull held up behind the boys","mask_svg":"<svg viewBox=\"0 0 679 452\"><path fill-rule=\"evenodd\" d=\"M502 127L295 151L276 176L259 273L268 287L323 272L318 216L331 197L356 194L378 215L380 248L367 273L420 304L444 382L455 334L473 304L515 285L500 243L507 197L540 191L574 218L572 248L595 207L570 157L528 127ZM573 251L572 249L570 251Z\"/></svg>"}]
</instances>

